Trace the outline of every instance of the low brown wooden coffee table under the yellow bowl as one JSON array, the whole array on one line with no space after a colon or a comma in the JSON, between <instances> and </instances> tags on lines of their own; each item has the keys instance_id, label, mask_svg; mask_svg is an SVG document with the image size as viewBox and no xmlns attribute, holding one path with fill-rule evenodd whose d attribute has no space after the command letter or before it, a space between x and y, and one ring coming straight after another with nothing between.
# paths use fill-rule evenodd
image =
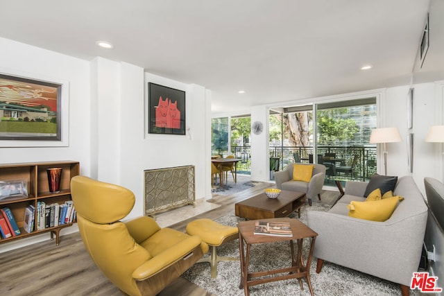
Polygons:
<instances>
[{"instance_id":1,"label":"low brown wooden coffee table under the yellow bowl","mask_svg":"<svg viewBox=\"0 0 444 296\"><path fill-rule=\"evenodd\" d=\"M234 212L236 216L247 220L282 218L294 211L298 211L300 218L300 207L305 204L306 200L305 193L298 191L282 190L279 197L275 199L261 193L234 204Z\"/></svg>"}]
</instances>

